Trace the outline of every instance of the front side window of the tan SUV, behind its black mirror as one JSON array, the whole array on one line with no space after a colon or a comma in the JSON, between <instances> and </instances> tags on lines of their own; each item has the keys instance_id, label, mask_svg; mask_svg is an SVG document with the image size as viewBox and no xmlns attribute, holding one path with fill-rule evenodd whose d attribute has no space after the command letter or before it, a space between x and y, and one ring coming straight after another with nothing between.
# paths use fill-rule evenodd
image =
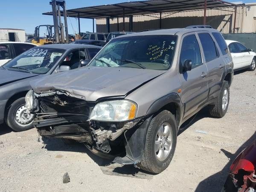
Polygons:
<instances>
[{"instance_id":1,"label":"front side window of the tan SUV, behind its black mirror","mask_svg":"<svg viewBox=\"0 0 256 192\"><path fill-rule=\"evenodd\" d=\"M183 39L180 52L180 65L183 65L186 60L192 61L192 68L202 64L200 47L195 35L189 35Z\"/></svg>"}]
</instances>

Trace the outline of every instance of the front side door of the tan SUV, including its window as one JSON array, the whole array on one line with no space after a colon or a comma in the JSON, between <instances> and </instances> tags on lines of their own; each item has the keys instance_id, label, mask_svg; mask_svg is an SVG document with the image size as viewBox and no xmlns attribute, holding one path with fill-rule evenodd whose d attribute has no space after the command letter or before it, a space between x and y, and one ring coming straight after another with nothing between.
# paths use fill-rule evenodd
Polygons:
<instances>
[{"instance_id":1,"label":"front side door of the tan SUV, including its window","mask_svg":"<svg viewBox=\"0 0 256 192\"><path fill-rule=\"evenodd\" d=\"M183 73L178 71L181 83L181 100L185 105L184 116L192 116L202 106L208 96L207 67L203 63L201 49L195 33L188 33L182 37L180 47L179 69L184 61L192 61L192 70Z\"/></svg>"}]
</instances>

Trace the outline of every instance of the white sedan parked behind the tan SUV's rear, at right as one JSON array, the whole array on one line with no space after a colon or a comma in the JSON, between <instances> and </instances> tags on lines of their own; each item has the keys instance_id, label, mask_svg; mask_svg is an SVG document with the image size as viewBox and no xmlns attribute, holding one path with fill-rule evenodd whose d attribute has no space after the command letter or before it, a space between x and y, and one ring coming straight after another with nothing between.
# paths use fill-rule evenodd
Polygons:
<instances>
[{"instance_id":1,"label":"white sedan parked behind the tan SUV's rear, at right","mask_svg":"<svg viewBox=\"0 0 256 192\"><path fill-rule=\"evenodd\" d=\"M249 69L254 71L256 68L256 53L252 49L247 49L237 41L226 40L227 46L234 63L234 70Z\"/></svg>"}]
</instances>

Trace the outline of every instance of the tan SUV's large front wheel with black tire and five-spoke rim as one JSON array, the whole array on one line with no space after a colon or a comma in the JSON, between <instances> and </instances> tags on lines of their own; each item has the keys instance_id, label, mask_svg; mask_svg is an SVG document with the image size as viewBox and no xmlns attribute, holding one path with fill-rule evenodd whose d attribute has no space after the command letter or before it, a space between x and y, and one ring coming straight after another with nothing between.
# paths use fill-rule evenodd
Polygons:
<instances>
[{"instance_id":1,"label":"tan SUV's large front wheel with black tire and five-spoke rim","mask_svg":"<svg viewBox=\"0 0 256 192\"><path fill-rule=\"evenodd\" d=\"M166 139L166 136L163 136L164 140L161 141L160 137L160 127L163 127L163 133L166 130L170 130L170 134L168 137L168 140ZM167 125L167 127L166 127ZM175 147L177 143L177 125L175 121L175 116L170 112L170 111L162 111L155 116L149 126L148 126L148 131L146 134L146 140L145 140L145 149L142 154L142 161L138 164L138 166L148 172L152 173L160 173L165 170L174 155L175 152ZM172 141L170 141L172 140ZM161 147L163 143L164 147ZM171 144L170 144L171 143ZM158 145L160 144L160 145ZM170 144L170 150L168 151L168 148L165 146ZM163 146L162 145L162 146ZM164 153L160 153L160 150L157 152L155 148L158 148L156 146L160 146L159 149L161 151L164 150ZM161 154L165 154L164 156L161 156Z\"/></svg>"}]
</instances>

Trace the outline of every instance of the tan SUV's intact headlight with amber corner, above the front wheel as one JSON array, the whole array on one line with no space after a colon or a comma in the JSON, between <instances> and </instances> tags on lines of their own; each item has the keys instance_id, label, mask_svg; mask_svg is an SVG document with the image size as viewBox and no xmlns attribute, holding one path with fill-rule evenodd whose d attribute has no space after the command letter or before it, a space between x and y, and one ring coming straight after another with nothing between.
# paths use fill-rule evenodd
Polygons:
<instances>
[{"instance_id":1,"label":"tan SUV's intact headlight with amber corner, above the front wheel","mask_svg":"<svg viewBox=\"0 0 256 192\"><path fill-rule=\"evenodd\" d=\"M114 100L98 103L89 119L99 121L127 121L135 118L137 106L127 100Z\"/></svg>"}]
</instances>

